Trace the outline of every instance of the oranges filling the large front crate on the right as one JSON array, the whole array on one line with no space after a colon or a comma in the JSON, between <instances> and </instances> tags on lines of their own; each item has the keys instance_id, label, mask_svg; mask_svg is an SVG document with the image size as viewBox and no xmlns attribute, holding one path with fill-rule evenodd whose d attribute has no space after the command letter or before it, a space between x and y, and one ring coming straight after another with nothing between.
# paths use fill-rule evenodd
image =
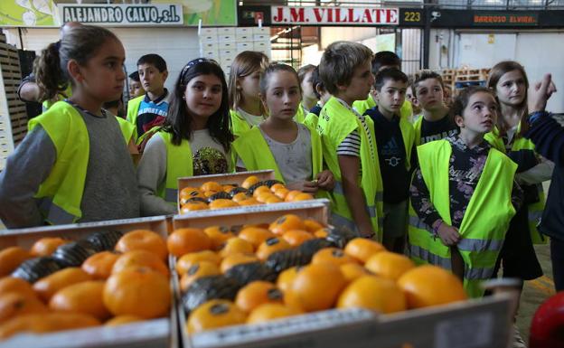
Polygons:
<instances>
[{"instance_id":1,"label":"oranges filling the large front crate on the right","mask_svg":"<svg viewBox=\"0 0 564 348\"><path fill-rule=\"evenodd\" d=\"M219 276L236 265L265 261L278 250L296 248L327 233L321 223L294 214L269 224L245 226L239 233L229 230L221 234L218 230L229 229L181 229L169 236L169 250L178 258L176 271L182 291L200 277ZM196 307L185 328L196 334L334 307L362 307L389 314L465 298L462 283L450 272L434 266L415 267L409 258L387 251L380 243L357 238L344 249L320 249L309 265L282 271L276 284L253 281L240 288L233 301L213 299Z\"/></svg>"}]
</instances>

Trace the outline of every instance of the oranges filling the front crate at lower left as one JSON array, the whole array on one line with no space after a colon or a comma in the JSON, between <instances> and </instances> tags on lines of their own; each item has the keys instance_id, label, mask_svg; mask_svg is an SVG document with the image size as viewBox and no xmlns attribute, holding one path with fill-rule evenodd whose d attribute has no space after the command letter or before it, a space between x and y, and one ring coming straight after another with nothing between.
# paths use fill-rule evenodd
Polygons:
<instances>
[{"instance_id":1,"label":"oranges filling the front crate at lower left","mask_svg":"<svg viewBox=\"0 0 564 348\"><path fill-rule=\"evenodd\" d=\"M113 251L101 251L80 267L62 268L33 284L11 277L25 259L51 255L69 242L37 240L30 251L0 250L0 340L35 334L117 325L168 315L172 293L165 240L151 230L132 230Z\"/></svg>"}]
</instances>

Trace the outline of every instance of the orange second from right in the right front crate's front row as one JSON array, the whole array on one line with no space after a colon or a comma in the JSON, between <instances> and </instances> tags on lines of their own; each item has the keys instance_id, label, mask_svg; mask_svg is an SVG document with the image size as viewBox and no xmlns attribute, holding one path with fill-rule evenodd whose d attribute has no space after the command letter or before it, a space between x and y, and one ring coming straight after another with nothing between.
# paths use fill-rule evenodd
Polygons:
<instances>
[{"instance_id":1,"label":"orange second from right in the right front crate's front row","mask_svg":"<svg viewBox=\"0 0 564 348\"><path fill-rule=\"evenodd\" d=\"M388 314L407 309L406 296L393 280L363 276L343 290L337 308L360 307Z\"/></svg>"}]
</instances>

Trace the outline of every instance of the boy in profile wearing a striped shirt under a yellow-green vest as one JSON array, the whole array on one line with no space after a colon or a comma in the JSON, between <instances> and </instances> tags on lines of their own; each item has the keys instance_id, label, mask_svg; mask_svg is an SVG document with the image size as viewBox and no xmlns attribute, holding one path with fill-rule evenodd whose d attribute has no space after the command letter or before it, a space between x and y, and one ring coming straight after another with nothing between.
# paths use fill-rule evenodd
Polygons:
<instances>
[{"instance_id":1,"label":"boy in profile wearing a striped shirt under a yellow-green vest","mask_svg":"<svg viewBox=\"0 0 564 348\"><path fill-rule=\"evenodd\" d=\"M381 176L374 124L352 105L366 98L374 75L371 50L358 42L333 42L319 64L325 89L332 94L319 115L324 160L334 174L332 223L381 239Z\"/></svg>"}]
</instances>

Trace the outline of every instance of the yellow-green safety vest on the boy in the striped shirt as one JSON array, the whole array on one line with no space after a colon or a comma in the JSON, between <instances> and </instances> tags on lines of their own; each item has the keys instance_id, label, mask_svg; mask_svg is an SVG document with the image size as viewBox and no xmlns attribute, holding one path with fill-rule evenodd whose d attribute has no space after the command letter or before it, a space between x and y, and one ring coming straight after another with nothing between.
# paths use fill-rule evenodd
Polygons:
<instances>
[{"instance_id":1,"label":"yellow-green safety vest on the boy in the striped shirt","mask_svg":"<svg viewBox=\"0 0 564 348\"><path fill-rule=\"evenodd\" d=\"M368 132L362 127L361 120L354 115L353 111L345 108L337 99L332 97L321 109L317 131L322 139L325 164L334 174L335 188L333 193L330 193L330 199L333 203L332 221L335 225L344 226L351 230L357 230L357 227L353 221L349 204L344 197L341 167L336 150L343 139L354 130L358 131L359 136L361 136L362 176L359 177L358 184L362 193L364 193L366 210L371 219L372 229L377 234L378 240L381 240L383 194L380 164L376 137L374 136L374 123L368 117L366 123L369 127Z\"/></svg>"}]
</instances>

